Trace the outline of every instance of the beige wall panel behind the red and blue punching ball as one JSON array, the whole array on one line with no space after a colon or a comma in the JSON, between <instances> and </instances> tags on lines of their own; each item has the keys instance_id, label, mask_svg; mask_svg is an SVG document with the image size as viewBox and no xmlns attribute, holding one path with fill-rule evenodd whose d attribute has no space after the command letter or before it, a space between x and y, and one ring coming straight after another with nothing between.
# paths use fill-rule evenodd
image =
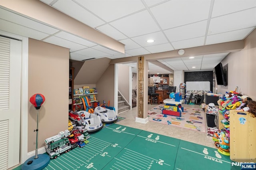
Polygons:
<instances>
[{"instance_id":1,"label":"beige wall panel behind the red and blue punching ball","mask_svg":"<svg viewBox=\"0 0 256 170\"><path fill-rule=\"evenodd\" d=\"M45 102L39 110L38 148L44 140L68 128L69 49L28 41L28 98L41 93ZM29 100L28 99L28 100ZM28 102L28 152L36 148L36 114Z\"/></svg>"}]
</instances>

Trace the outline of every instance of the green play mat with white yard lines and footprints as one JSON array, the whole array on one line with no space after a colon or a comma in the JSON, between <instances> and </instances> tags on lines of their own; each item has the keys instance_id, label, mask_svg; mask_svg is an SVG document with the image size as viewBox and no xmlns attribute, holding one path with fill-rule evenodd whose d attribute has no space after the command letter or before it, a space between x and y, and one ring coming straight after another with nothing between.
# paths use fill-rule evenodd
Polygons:
<instances>
[{"instance_id":1,"label":"green play mat with white yard lines and footprints","mask_svg":"<svg viewBox=\"0 0 256 170\"><path fill-rule=\"evenodd\" d=\"M240 170L217 149L113 124L83 148L51 159L45 170ZM18 168L16 168L18 169Z\"/></svg>"}]
</instances>

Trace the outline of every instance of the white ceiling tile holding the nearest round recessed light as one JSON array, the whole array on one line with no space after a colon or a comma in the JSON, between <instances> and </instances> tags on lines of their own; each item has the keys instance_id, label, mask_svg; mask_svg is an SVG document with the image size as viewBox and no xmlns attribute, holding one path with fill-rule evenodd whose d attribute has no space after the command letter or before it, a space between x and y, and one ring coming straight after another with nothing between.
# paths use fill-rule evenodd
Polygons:
<instances>
[{"instance_id":1,"label":"white ceiling tile holding the nearest round recessed light","mask_svg":"<svg viewBox=\"0 0 256 170\"><path fill-rule=\"evenodd\" d=\"M136 43L141 45L142 47L152 46L152 45L158 45L162 43L168 43L167 39L165 38L164 34L162 32L154 32L150 34L146 34L143 36L138 36L131 38ZM155 40L153 43L148 43L147 40Z\"/></svg>"}]
</instances>

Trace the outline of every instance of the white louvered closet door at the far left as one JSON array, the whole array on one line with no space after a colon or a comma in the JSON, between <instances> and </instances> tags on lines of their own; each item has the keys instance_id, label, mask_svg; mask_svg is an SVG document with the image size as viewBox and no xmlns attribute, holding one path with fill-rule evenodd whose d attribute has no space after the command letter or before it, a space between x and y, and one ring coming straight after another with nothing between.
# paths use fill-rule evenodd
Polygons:
<instances>
[{"instance_id":1,"label":"white louvered closet door at the far left","mask_svg":"<svg viewBox=\"0 0 256 170\"><path fill-rule=\"evenodd\" d=\"M0 170L19 164L21 44L0 37Z\"/></svg>"}]
</instances>

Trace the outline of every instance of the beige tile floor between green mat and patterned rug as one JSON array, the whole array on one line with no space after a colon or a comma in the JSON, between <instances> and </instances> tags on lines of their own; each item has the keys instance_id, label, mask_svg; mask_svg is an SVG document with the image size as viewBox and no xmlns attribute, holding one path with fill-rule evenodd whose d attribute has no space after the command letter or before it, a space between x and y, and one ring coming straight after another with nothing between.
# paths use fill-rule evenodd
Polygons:
<instances>
[{"instance_id":1,"label":"beige tile floor between green mat and patterned rug","mask_svg":"<svg viewBox=\"0 0 256 170\"><path fill-rule=\"evenodd\" d=\"M157 104L156 105L149 104L148 110L152 109L153 107L156 107L156 106L157 106ZM201 109L200 105L183 104L182 106ZM201 144L204 146L216 148L214 146L214 141L212 140L212 137L207 136L207 134L204 132L197 132L194 130L188 130L186 128L179 128L179 127L174 127L174 126L170 126L170 125L164 125L162 123L156 123L156 122L152 122L152 121L148 121L148 123L146 123L146 124L135 122L135 117L137 117L137 107L133 107L132 110L128 110L128 111L119 113L118 116L126 118L122 121L117 122L117 124L119 124L119 125L138 128L138 129L142 129L142 130L147 130L147 131L162 134L165 136L170 136L173 138L178 138L178 139L186 140L186 141L193 142L196 144ZM207 123L205 125L207 128Z\"/></svg>"}]
</instances>

